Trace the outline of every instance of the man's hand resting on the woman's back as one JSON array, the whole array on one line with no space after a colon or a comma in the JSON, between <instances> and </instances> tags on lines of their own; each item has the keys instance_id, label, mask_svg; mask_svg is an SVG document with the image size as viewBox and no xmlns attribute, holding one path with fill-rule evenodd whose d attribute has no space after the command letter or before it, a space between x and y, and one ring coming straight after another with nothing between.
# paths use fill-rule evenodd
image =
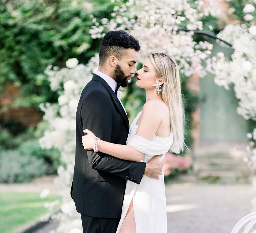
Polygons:
<instances>
[{"instance_id":1,"label":"man's hand resting on the woman's back","mask_svg":"<svg viewBox=\"0 0 256 233\"><path fill-rule=\"evenodd\" d=\"M146 168L144 171L144 175L147 175L150 178L159 179L159 175L162 174L164 161L159 161L158 159L162 156L156 155L153 158L151 158L146 163Z\"/></svg>"}]
</instances>

